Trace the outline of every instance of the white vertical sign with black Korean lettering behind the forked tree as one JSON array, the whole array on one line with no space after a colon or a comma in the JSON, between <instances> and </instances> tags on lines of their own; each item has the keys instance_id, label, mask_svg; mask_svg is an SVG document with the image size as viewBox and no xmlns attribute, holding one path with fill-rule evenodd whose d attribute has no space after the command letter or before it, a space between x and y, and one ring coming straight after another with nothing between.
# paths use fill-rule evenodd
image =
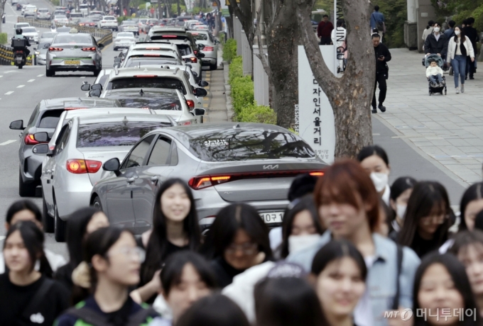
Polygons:
<instances>
[{"instance_id":1,"label":"white vertical sign with black Korean lettering behind the forked tree","mask_svg":"<svg viewBox=\"0 0 483 326\"><path fill-rule=\"evenodd\" d=\"M332 74L336 74L335 45L320 45L320 52ZM328 164L334 162L335 122L332 106L319 87L303 45L298 45L298 134ZM296 123L296 120L295 120Z\"/></svg>"}]
</instances>

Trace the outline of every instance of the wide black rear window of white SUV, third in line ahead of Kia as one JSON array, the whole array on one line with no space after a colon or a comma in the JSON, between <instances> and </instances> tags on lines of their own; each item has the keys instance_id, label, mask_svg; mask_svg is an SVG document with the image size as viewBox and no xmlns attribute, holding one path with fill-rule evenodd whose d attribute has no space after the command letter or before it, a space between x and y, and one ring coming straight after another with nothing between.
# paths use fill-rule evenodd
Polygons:
<instances>
[{"instance_id":1,"label":"wide black rear window of white SUV, third in line ahead of Kia","mask_svg":"<svg viewBox=\"0 0 483 326\"><path fill-rule=\"evenodd\" d=\"M109 81L107 84L107 89L179 89L186 94L185 86L183 81L177 78L170 77L127 77L119 78Z\"/></svg>"}]
</instances>

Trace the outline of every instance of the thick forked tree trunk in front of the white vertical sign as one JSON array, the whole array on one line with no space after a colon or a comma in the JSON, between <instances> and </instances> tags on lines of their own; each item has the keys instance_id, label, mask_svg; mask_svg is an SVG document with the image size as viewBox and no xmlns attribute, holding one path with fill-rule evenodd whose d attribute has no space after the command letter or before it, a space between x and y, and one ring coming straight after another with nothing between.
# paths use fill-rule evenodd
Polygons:
<instances>
[{"instance_id":1,"label":"thick forked tree trunk in front of the white vertical sign","mask_svg":"<svg viewBox=\"0 0 483 326\"><path fill-rule=\"evenodd\" d=\"M367 30L371 3L342 0L349 56L344 75L337 78L327 68L313 33L310 23L312 1L297 1L300 39L315 79L327 94L334 111L335 157L356 157L362 147L372 144L370 106L376 79L376 60Z\"/></svg>"}]
</instances>

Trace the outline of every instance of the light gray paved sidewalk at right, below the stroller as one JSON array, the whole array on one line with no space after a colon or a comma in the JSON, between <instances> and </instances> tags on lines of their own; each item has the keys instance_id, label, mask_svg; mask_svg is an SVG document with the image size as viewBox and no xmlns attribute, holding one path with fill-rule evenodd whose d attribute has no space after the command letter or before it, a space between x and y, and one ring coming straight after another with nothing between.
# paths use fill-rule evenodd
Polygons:
<instances>
[{"instance_id":1,"label":"light gray paved sidewalk at right, below the stroller","mask_svg":"<svg viewBox=\"0 0 483 326\"><path fill-rule=\"evenodd\" d=\"M482 181L483 68L465 82L465 93L455 94L452 76L446 77L447 95L428 94L423 55L392 49L385 113L373 114L435 167L462 186ZM378 91L379 93L379 91ZM377 137L374 137L377 142ZM416 169L417 167L415 167Z\"/></svg>"}]
</instances>

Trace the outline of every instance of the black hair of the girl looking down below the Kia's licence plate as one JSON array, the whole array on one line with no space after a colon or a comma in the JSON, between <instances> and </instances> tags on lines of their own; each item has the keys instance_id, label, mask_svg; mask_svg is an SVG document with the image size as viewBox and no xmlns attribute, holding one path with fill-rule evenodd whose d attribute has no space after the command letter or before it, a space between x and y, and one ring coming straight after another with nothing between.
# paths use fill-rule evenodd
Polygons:
<instances>
[{"instance_id":1,"label":"black hair of the girl looking down below the Kia's licence plate","mask_svg":"<svg viewBox=\"0 0 483 326\"><path fill-rule=\"evenodd\" d=\"M242 229L264 252L266 259L272 259L268 229L259 212L246 203L233 203L219 210L215 221L207 232L205 248L207 259L223 257L225 249L232 244L237 230Z\"/></svg>"}]
</instances>

